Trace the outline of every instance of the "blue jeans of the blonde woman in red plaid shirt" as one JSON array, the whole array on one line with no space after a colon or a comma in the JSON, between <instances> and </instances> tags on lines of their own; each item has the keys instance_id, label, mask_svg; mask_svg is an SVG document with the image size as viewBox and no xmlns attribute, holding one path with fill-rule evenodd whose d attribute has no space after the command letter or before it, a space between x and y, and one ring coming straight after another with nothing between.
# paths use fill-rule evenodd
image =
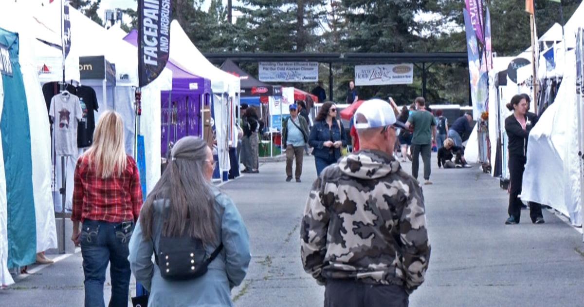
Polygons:
<instances>
[{"instance_id":1,"label":"blue jeans of the blonde woman in red plaid shirt","mask_svg":"<svg viewBox=\"0 0 584 307\"><path fill-rule=\"evenodd\" d=\"M106 280L107 264L110 264L112 277L112 298L109 306L128 306L131 274L128 243L133 231L134 222L83 222L79 241L85 274L85 307L105 306L103 282Z\"/></svg>"}]
</instances>

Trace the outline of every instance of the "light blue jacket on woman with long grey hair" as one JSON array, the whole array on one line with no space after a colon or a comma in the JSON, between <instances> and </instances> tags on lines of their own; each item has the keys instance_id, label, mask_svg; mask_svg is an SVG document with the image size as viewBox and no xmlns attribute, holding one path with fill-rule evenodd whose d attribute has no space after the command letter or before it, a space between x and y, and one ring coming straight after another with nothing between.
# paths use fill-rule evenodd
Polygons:
<instances>
[{"instance_id":1,"label":"light blue jacket on woman with long grey hair","mask_svg":"<svg viewBox=\"0 0 584 307\"><path fill-rule=\"evenodd\" d=\"M208 254L223 242L223 250L208 265L201 277L187 281L168 281L161 277L158 265L152 261L157 250L168 203L154 202L153 239L144 239L138 221L130 239L130 267L137 282L148 291L148 306L224 306L231 307L231 288L241 284L246 275L251 254L249 235L237 207L231 198L218 190L215 194L215 230L217 242L206 246Z\"/></svg>"}]
</instances>

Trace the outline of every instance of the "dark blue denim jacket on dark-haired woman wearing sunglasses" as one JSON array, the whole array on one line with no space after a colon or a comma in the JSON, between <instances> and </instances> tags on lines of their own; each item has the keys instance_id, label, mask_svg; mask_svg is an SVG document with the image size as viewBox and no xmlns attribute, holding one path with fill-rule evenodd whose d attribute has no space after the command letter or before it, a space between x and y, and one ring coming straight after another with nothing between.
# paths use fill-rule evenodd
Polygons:
<instances>
[{"instance_id":1,"label":"dark blue denim jacket on dark-haired woman wearing sunglasses","mask_svg":"<svg viewBox=\"0 0 584 307\"><path fill-rule=\"evenodd\" d=\"M340 129L339 129L340 126ZM326 120L321 120L319 122L315 122L314 126L310 130L310 137L308 138L308 144L314 147L312 154L318 158L328 158L329 154L335 156L335 159L340 158L340 148L335 147L324 147L322 144L326 141L331 140L331 130L332 130L332 142L342 141L343 147L347 146L347 134L345 132L345 127L343 127L343 123L337 120L333 120L332 126L329 129L328 123Z\"/></svg>"}]
</instances>

